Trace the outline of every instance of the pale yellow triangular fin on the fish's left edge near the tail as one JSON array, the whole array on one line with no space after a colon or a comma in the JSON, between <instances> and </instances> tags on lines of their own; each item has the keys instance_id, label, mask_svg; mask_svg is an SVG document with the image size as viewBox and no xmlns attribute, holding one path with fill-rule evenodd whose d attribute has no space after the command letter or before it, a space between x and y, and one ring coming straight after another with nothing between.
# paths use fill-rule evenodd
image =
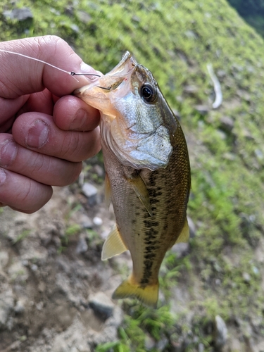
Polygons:
<instances>
[{"instance_id":1,"label":"pale yellow triangular fin on the fish's left edge near the tail","mask_svg":"<svg viewBox=\"0 0 264 352\"><path fill-rule=\"evenodd\" d=\"M115 225L103 244L101 260L106 260L108 258L112 258L113 256L118 256L118 254L125 251L127 251L127 247L122 241L118 228Z\"/></svg>"}]
</instances>

